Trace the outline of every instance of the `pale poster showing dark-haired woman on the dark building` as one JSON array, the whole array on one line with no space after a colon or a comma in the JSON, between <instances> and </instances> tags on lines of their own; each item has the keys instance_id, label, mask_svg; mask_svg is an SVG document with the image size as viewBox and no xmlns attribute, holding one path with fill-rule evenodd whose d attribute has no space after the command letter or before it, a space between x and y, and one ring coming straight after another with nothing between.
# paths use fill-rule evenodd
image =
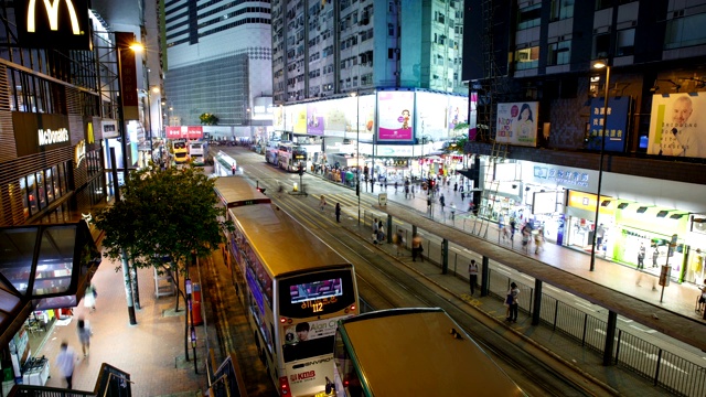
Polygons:
<instances>
[{"instance_id":1,"label":"pale poster showing dark-haired woman on the dark building","mask_svg":"<svg viewBox=\"0 0 706 397\"><path fill-rule=\"evenodd\" d=\"M539 103L498 104L495 141L509 144L537 144L537 109Z\"/></svg>"}]
</instances>

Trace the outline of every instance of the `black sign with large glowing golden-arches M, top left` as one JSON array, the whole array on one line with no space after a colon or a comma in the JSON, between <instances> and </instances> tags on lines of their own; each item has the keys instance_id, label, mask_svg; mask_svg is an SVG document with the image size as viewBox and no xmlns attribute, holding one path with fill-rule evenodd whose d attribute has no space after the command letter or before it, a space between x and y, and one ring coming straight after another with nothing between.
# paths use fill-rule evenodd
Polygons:
<instances>
[{"instance_id":1,"label":"black sign with large glowing golden-arches M, top left","mask_svg":"<svg viewBox=\"0 0 706 397\"><path fill-rule=\"evenodd\" d=\"M17 0L19 45L90 50L88 0Z\"/></svg>"}]
</instances>

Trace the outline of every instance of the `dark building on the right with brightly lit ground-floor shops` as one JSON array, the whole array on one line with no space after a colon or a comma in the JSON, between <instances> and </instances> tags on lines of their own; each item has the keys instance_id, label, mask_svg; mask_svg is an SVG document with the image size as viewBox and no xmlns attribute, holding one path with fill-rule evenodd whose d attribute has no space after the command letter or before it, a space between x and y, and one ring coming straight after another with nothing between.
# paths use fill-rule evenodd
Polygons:
<instances>
[{"instance_id":1,"label":"dark building on the right with brightly lit ground-floor shops","mask_svg":"<svg viewBox=\"0 0 706 397\"><path fill-rule=\"evenodd\" d=\"M700 282L705 6L466 1L464 41L480 44L463 60L479 99L467 151L481 158L477 182L500 186L477 204L494 218L522 211L557 244L628 266L643 244L657 265L645 271L668 264L675 280ZM503 165L493 141L507 144Z\"/></svg>"}]
</instances>

